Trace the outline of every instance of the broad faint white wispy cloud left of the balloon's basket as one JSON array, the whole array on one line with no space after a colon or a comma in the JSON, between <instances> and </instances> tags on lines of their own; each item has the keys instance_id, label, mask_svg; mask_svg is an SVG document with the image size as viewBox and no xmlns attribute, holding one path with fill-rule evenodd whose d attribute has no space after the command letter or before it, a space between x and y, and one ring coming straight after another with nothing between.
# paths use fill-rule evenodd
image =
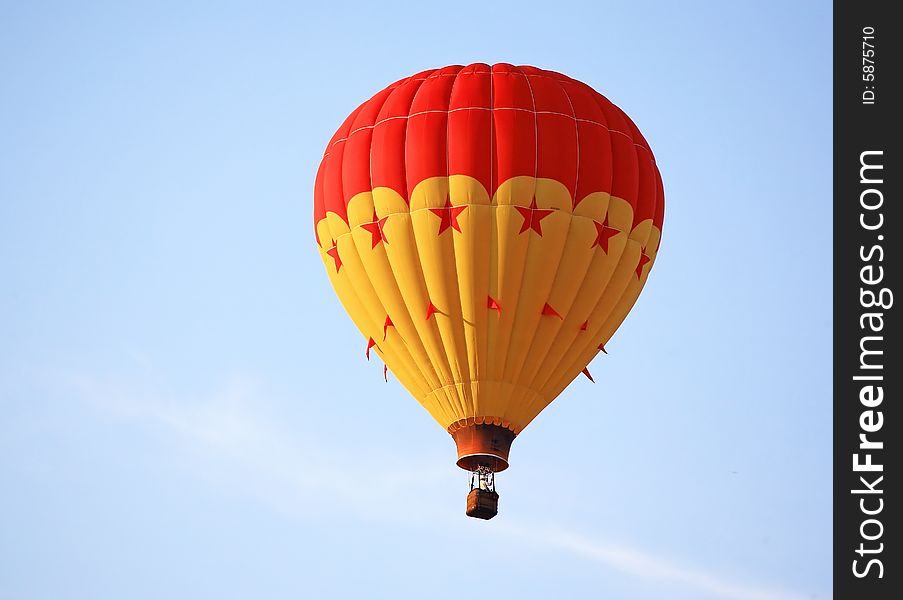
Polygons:
<instances>
[{"instance_id":1,"label":"broad faint white wispy cloud left of the balloon's basket","mask_svg":"<svg viewBox=\"0 0 903 600\"><path fill-rule=\"evenodd\" d=\"M303 516L322 499L344 511L374 518L394 512L399 490L414 480L441 476L416 457L399 460L403 467L385 472L375 456L352 455L312 440L313 431L288 431L266 419L253 381L235 377L216 391L196 397L173 397L140 385L80 377L81 397L105 414L178 436L186 456L205 461L199 471L209 476L209 461L223 467L244 492L271 508ZM186 460L188 460L186 458ZM430 475L430 474L433 475ZM253 485L249 485L249 483ZM432 519L428 506L406 507L406 516Z\"/></svg>"}]
</instances>

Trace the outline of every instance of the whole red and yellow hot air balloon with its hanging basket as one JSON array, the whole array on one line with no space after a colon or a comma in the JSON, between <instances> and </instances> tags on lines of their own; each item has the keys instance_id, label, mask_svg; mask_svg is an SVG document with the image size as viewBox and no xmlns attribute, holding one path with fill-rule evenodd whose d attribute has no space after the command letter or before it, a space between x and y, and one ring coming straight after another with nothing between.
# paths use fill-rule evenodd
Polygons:
<instances>
[{"instance_id":1,"label":"whole red and yellow hot air balloon with its hanging basket","mask_svg":"<svg viewBox=\"0 0 903 600\"><path fill-rule=\"evenodd\" d=\"M636 125L535 67L423 71L329 141L320 255L368 358L454 438L469 516L496 515L512 441L589 376L646 283L663 215Z\"/></svg>"}]
</instances>

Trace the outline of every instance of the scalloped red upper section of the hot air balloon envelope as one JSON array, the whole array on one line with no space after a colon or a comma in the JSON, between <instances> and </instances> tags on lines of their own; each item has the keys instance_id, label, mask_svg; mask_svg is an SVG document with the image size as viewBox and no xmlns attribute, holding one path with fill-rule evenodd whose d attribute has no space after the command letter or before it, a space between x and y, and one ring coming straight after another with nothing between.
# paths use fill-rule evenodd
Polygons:
<instances>
[{"instance_id":1,"label":"scalloped red upper section of the hot air balloon envelope","mask_svg":"<svg viewBox=\"0 0 903 600\"><path fill-rule=\"evenodd\" d=\"M424 179L469 175L490 197L511 177L564 184L574 206L610 192L634 209L634 224L662 225L661 177L633 121L588 85L554 71L473 64L397 81L352 112L317 172L314 220L388 187L403 198Z\"/></svg>"}]
</instances>

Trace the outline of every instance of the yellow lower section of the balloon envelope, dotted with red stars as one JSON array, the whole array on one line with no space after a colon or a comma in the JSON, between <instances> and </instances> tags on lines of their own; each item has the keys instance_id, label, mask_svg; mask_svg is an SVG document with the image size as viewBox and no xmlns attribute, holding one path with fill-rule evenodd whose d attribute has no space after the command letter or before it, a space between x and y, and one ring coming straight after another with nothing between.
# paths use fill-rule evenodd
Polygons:
<instances>
[{"instance_id":1,"label":"yellow lower section of the balloon envelope, dotted with red stars","mask_svg":"<svg viewBox=\"0 0 903 600\"><path fill-rule=\"evenodd\" d=\"M448 198L466 208L456 217L460 231L439 233L442 218L429 209ZM521 231L516 208L534 198L538 209L553 210L539 221L541 235ZM388 217L375 246L373 227L363 227L374 209ZM593 222L606 217L621 231L607 253L595 244ZM471 177L435 177L417 185L410 206L377 188L351 199L348 221L327 213L317 233L330 281L364 339L376 341L388 368L444 428L494 423L516 433L614 334L661 237L651 220L631 228L633 210L620 198L594 193L574 209L564 185L533 177L504 182L491 199ZM651 260L637 277L643 252ZM489 308L490 297L500 310ZM430 303L436 312L427 319ZM560 318L543 314L546 303Z\"/></svg>"}]
</instances>

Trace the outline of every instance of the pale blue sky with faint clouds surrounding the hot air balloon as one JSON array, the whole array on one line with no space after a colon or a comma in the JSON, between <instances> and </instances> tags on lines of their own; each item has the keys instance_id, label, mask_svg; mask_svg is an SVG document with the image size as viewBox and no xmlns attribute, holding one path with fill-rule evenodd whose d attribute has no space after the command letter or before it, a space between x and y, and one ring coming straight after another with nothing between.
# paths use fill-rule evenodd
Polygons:
<instances>
[{"instance_id":1,"label":"pale blue sky with faint clouds surrounding the hot air balloon","mask_svg":"<svg viewBox=\"0 0 903 600\"><path fill-rule=\"evenodd\" d=\"M830 597L830 3L414 6L0 5L0 597ZM477 61L606 94L667 198L491 522L311 225L348 112Z\"/></svg>"}]
</instances>

